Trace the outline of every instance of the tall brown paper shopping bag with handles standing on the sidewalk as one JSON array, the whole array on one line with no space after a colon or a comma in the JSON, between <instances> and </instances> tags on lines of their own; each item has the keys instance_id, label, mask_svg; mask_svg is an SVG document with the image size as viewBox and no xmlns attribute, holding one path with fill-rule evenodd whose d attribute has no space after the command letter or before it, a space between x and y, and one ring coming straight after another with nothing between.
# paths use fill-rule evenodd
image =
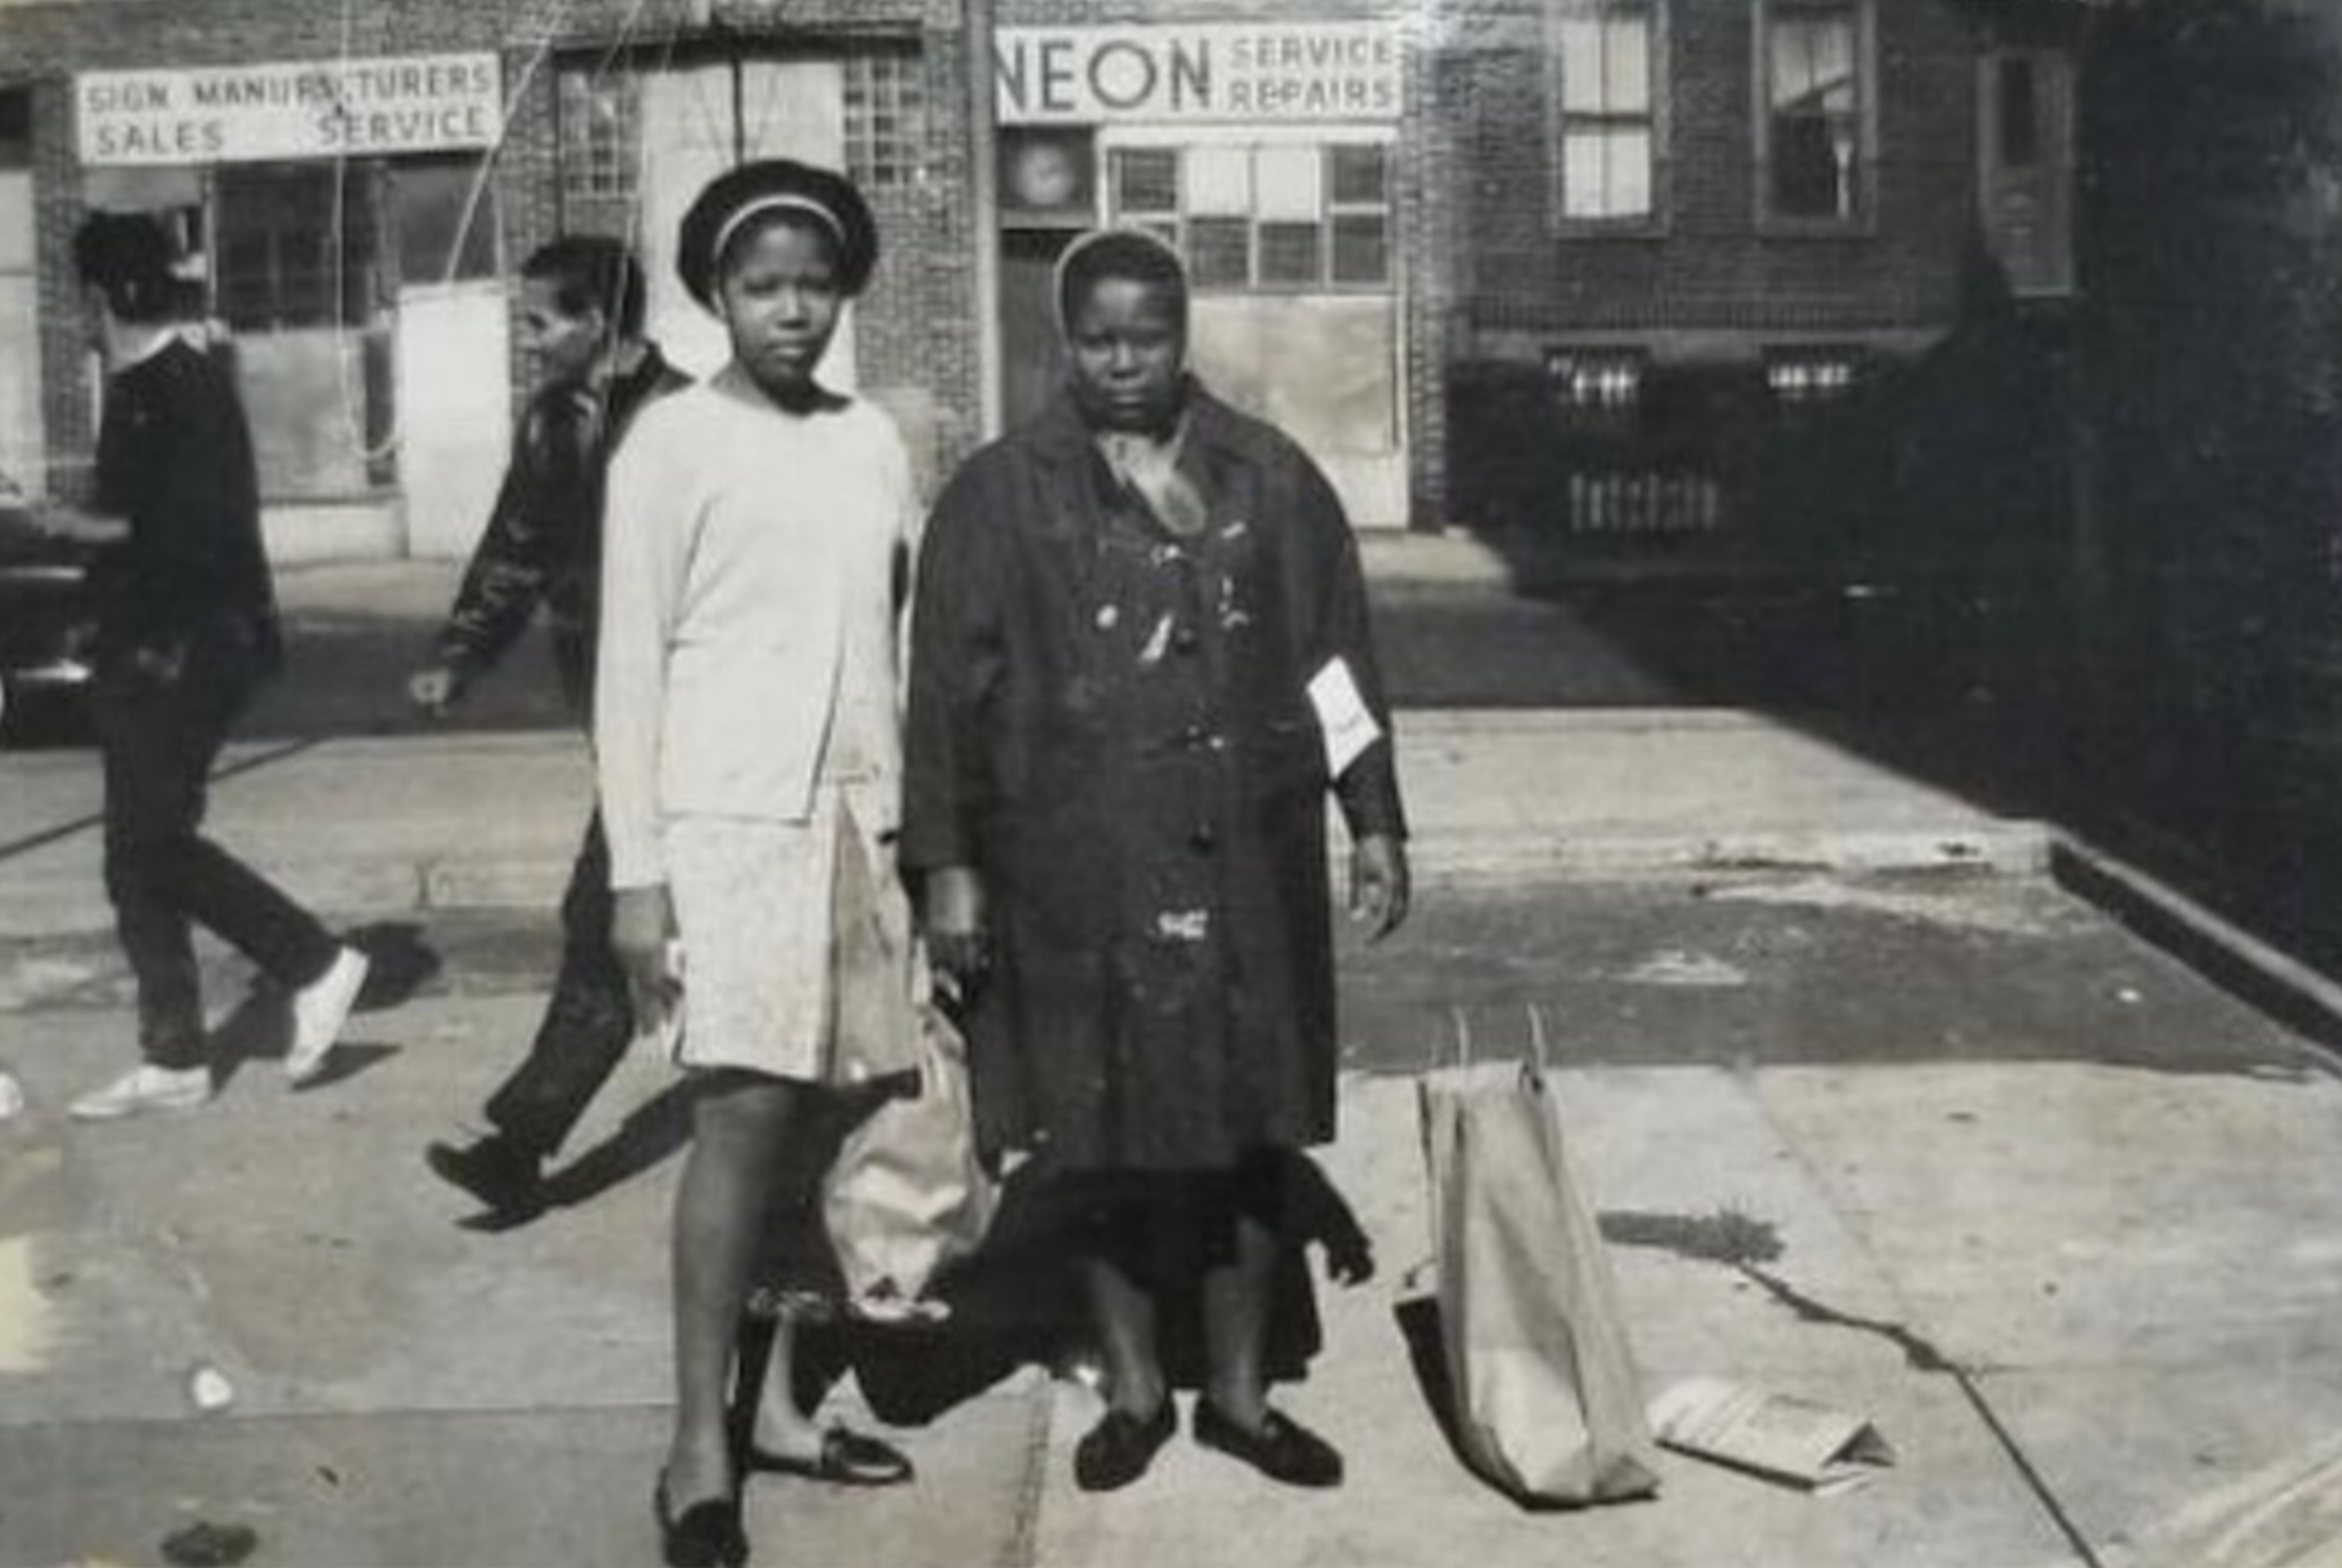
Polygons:
<instances>
[{"instance_id":1,"label":"tall brown paper shopping bag with handles standing on the sidewalk","mask_svg":"<svg viewBox=\"0 0 2342 1568\"><path fill-rule=\"evenodd\" d=\"M1424 1073L1440 1345L1466 1460L1525 1502L1611 1502L1658 1491L1609 1256L1569 1172L1560 1106L1536 1062Z\"/></svg>"}]
</instances>

